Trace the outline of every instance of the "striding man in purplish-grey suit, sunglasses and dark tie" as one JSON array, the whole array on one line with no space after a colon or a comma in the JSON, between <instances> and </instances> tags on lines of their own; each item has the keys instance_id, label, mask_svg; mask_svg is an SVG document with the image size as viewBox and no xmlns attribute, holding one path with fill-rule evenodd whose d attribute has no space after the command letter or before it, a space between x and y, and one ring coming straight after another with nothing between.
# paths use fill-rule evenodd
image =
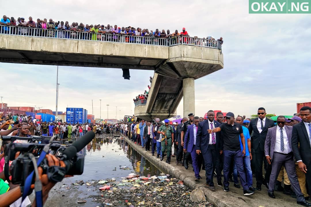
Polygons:
<instances>
[{"instance_id":1,"label":"striding man in purplish-grey suit, sunglasses and dark tie","mask_svg":"<svg viewBox=\"0 0 311 207\"><path fill-rule=\"evenodd\" d=\"M269 181L268 195L275 198L274 184L280 173L282 165L284 165L290 180L291 186L297 196L297 204L311 206L304 199L301 193L298 177L296 174L296 166L294 154L291 147L292 126L285 126L285 117L278 116L276 120L277 126L268 129L265 141L265 155L267 162L271 164L272 171Z\"/></svg>"}]
</instances>

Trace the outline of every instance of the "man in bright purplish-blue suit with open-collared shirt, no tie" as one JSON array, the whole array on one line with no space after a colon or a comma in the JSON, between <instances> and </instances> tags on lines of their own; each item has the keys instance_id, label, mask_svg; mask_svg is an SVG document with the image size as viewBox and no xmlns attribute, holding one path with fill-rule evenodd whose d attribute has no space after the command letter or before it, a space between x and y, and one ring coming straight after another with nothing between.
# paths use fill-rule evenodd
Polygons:
<instances>
[{"instance_id":1,"label":"man in bright purplish-blue suit with open-collared shirt, no tie","mask_svg":"<svg viewBox=\"0 0 311 207\"><path fill-rule=\"evenodd\" d=\"M199 181L201 179L200 176L200 170L199 166L197 163L197 152L196 152L196 138L197 138L197 128L200 123L200 118L198 116L193 118L193 124L188 126L186 135L185 135L185 140L184 140L184 145L183 145L183 152L184 153L190 153L191 158L192 158L192 166L194 170L194 176L195 176L195 181ZM200 166L201 167L201 166Z\"/></svg>"}]
</instances>

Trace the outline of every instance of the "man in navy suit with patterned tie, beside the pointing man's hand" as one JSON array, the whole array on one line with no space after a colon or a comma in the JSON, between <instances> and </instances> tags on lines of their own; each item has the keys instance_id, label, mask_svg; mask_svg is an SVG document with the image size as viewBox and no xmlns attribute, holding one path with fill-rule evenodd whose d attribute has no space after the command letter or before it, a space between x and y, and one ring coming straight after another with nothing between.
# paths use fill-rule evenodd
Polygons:
<instances>
[{"instance_id":1,"label":"man in navy suit with patterned tie, beside the pointing man's hand","mask_svg":"<svg viewBox=\"0 0 311 207\"><path fill-rule=\"evenodd\" d=\"M214 129L219 127L219 122L214 120L215 113L210 110L207 112L207 120L200 122L197 129L197 140L196 140L196 152L197 154L202 153L205 161L205 176L206 185L209 186L211 191L215 191L213 174L216 167L216 158L220 152L220 134L207 132L208 129Z\"/></svg>"}]
</instances>

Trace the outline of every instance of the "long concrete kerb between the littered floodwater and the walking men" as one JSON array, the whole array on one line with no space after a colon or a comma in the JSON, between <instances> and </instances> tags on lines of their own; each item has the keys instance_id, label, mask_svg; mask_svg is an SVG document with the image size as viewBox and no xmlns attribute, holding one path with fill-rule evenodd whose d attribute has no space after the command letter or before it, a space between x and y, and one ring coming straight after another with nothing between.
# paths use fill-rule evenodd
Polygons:
<instances>
[{"instance_id":1,"label":"long concrete kerb between the littered floodwater and the walking men","mask_svg":"<svg viewBox=\"0 0 311 207\"><path fill-rule=\"evenodd\" d=\"M217 193L217 191L212 192L209 189L207 189L205 184L198 184L194 181L194 176L188 176L185 175L183 171L180 169L172 166L171 164L167 164L166 162L160 161L159 158L156 158L156 156L152 156L150 151L145 151L145 148L142 148L140 145L137 145L133 143L130 139L127 137L124 137L125 141L128 142L129 145L131 145L132 148L134 148L139 154L144 156L147 160L149 160L153 165L156 167L159 167L160 169L167 172L169 175L178 178L179 180L182 180L183 183L190 187L191 189L199 188L201 189L207 200L212 203L215 206L218 207L232 207L232 206L241 206L238 204L234 204L231 202L227 202L227 198L223 195L220 195ZM237 198L238 199L238 198Z\"/></svg>"}]
</instances>

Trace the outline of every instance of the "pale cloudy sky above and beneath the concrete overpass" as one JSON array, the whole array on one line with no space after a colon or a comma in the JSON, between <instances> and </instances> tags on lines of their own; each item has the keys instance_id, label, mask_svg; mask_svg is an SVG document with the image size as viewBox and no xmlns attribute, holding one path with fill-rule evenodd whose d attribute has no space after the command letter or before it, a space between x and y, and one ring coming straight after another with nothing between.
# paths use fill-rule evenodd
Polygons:
<instances>
[{"instance_id":1,"label":"pale cloudy sky above and beneath the concrete overpass","mask_svg":"<svg viewBox=\"0 0 311 207\"><path fill-rule=\"evenodd\" d=\"M2 5L3 15L149 30L185 27L190 36L222 36L224 68L195 80L198 116L221 110L249 117L258 107L265 107L268 114L292 115L296 103L311 101L310 92L302 90L311 86L310 14L248 14L245 0L15 3L19 6ZM8 106L55 111L56 66L0 63L0 72L9 83L2 85L0 93ZM101 99L101 118L107 118L107 112L109 119L132 115L132 100L147 89L153 72L130 70L130 75L130 80L124 80L121 69L60 66L58 111L82 107L91 114L93 99L94 115L99 118ZM183 100L177 114L183 115Z\"/></svg>"}]
</instances>

